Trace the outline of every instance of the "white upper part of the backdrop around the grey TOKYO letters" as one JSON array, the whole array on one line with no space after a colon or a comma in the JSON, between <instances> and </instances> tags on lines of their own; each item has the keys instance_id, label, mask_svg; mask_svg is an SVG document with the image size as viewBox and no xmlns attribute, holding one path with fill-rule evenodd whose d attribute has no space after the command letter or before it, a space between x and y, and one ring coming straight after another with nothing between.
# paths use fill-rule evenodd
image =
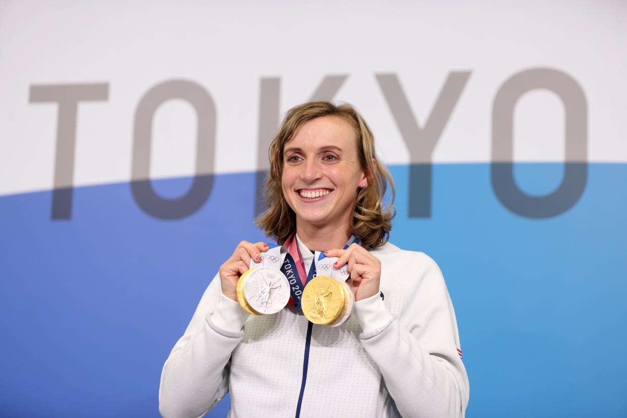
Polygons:
<instances>
[{"instance_id":1,"label":"white upper part of the backdrop around the grey TOKYO letters","mask_svg":"<svg viewBox=\"0 0 627 418\"><path fill-rule=\"evenodd\" d=\"M167 80L194 81L217 112L214 170L256 167L260 79L278 77L280 110L307 100L326 75L357 105L388 164L409 156L376 74L396 73L420 125L451 71L470 71L433 162L489 162L492 102L529 68L563 71L589 108L588 158L627 162L627 66L621 1L21 2L0 15L0 194L51 187L56 106L33 85L106 83L107 100L79 106L75 185L127 181L134 113ZM172 100L155 117L150 174L194 174L196 115ZM516 161L563 161L563 109L549 91L516 108ZM174 140L176 138L176 140Z\"/></svg>"}]
</instances>

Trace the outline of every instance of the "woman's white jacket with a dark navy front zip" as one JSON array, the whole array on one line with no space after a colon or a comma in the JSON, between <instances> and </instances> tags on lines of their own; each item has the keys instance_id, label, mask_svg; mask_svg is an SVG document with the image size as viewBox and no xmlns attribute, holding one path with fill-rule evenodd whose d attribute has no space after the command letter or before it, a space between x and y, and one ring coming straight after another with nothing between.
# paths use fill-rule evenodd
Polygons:
<instances>
[{"instance_id":1,"label":"woman's white jacket with a dark navy front zip","mask_svg":"<svg viewBox=\"0 0 627 418\"><path fill-rule=\"evenodd\" d=\"M389 243L370 253L383 298L358 301L340 327L313 325L308 347L300 311L248 315L216 275L163 367L161 414L201 417L230 392L229 417L292 418L299 396L303 418L463 417L468 376L440 269Z\"/></svg>"}]
</instances>

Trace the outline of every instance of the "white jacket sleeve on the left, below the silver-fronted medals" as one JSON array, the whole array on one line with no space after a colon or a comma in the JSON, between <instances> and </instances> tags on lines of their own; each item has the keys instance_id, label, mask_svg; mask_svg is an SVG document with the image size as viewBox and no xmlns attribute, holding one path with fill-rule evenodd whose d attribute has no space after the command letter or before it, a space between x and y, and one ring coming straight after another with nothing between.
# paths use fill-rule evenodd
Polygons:
<instances>
[{"instance_id":1,"label":"white jacket sleeve on the left, below the silver-fronted medals","mask_svg":"<svg viewBox=\"0 0 627 418\"><path fill-rule=\"evenodd\" d=\"M226 395L231 352L244 337L248 316L222 295L216 274L163 366L159 412L164 418L202 417Z\"/></svg>"}]
</instances>

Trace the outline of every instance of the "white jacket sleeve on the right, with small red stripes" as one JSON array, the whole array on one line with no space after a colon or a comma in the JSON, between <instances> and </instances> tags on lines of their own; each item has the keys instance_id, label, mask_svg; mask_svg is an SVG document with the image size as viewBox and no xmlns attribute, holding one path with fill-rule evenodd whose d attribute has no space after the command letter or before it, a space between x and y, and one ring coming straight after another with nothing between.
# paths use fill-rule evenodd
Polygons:
<instances>
[{"instance_id":1,"label":"white jacket sleeve on the right, with small red stripes","mask_svg":"<svg viewBox=\"0 0 627 418\"><path fill-rule=\"evenodd\" d=\"M468 405L468 376L461 362L455 311L440 269L423 253L396 271L404 292L399 316L379 295L356 303L360 336L404 417L458 417Z\"/></svg>"}]
</instances>

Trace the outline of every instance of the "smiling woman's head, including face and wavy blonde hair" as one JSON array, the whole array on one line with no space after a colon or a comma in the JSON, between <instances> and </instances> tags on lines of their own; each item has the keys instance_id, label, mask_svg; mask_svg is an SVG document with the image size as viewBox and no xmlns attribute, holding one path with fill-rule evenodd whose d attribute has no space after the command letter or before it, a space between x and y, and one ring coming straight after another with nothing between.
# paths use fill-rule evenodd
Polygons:
<instances>
[{"instance_id":1,"label":"smiling woman's head, including face and wavy blonde hair","mask_svg":"<svg viewBox=\"0 0 627 418\"><path fill-rule=\"evenodd\" d=\"M350 231L372 247L386 243L394 209L384 208L383 199L389 184L390 200L394 201L394 183L386 167L377 160L370 128L353 107L313 102L293 108L270 145L268 156L269 209L258 225L278 243L284 243L297 225L312 229L312 234L319 227L334 231L319 231L326 237L322 249L331 248L329 244L334 244L332 248L344 245L350 234L343 241L338 237L337 243L328 241L337 231ZM307 208L304 204L316 192L319 196L329 192L331 199L322 199L324 202L312 206L312 211L337 219L327 224L298 223L297 216L306 216L307 211L297 209ZM297 206L299 201L302 206ZM299 237L305 233L297 232Z\"/></svg>"}]
</instances>

